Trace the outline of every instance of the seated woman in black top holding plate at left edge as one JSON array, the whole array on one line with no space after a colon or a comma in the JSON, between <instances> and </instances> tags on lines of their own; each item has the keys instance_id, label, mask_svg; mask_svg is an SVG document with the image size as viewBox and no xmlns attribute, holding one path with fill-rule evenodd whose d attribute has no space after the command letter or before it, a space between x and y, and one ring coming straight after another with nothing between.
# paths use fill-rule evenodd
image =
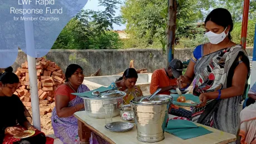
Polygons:
<instances>
[{"instance_id":1,"label":"seated woman in black top holding plate at left edge","mask_svg":"<svg viewBox=\"0 0 256 144\"><path fill-rule=\"evenodd\" d=\"M19 78L12 72L5 72L0 77L0 143L46 143L43 132L33 127L28 120L31 116L22 101L13 93L17 90ZM27 119L29 118L29 119ZM24 135L24 130L36 131L35 135L28 138L14 138ZM52 140L53 143L53 140Z\"/></svg>"}]
</instances>

